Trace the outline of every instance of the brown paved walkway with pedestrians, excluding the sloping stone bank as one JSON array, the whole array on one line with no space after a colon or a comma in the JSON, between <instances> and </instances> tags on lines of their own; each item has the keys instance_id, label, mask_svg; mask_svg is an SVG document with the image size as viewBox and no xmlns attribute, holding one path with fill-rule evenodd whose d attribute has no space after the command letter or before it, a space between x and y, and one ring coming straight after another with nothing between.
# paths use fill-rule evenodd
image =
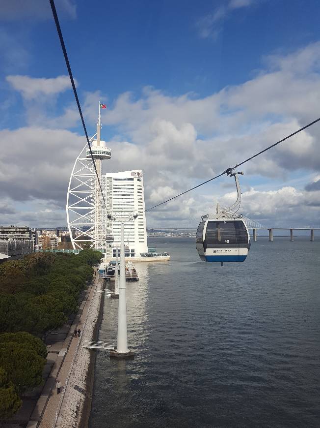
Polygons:
<instances>
[{"instance_id":1,"label":"brown paved walkway with pedestrians, excluding the sloping stone bank","mask_svg":"<svg viewBox=\"0 0 320 428\"><path fill-rule=\"evenodd\" d=\"M64 341L64 346L61 348L59 355L54 362L53 369L43 388L42 394L37 401L27 428L54 427L53 424L57 419L60 407L62 410L63 401L65 401L65 399L69 396L67 385L69 376L70 382L75 384L73 381L73 370L71 370L71 368L72 366L76 367L76 362L78 360L77 356L78 354L80 355L80 350L83 349L80 346L83 336L85 339L86 336L90 336L91 322L89 322L89 320L91 320L91 318L96 318L99 313L101 293L96 292L97 286L98 288L100 287L100 284L98 285L99 274L97 274L97 271L95 271L94 275L94 285L89 288L87 299L84 299L80 306L78 312L79 316L76 317L74 324L71 326L70 332ZM95 305L93 305L94 302ZM76 326L82 331L80 338L74 337L74 330ZM92 331L90 339L92 337ZM89 351L87 352L89 353ZM55 388L57 379L59 379L62 384L60 395L57 395ZM77 427L77 425L70 424L68 427Z\"/></svg>"}]
</instances>

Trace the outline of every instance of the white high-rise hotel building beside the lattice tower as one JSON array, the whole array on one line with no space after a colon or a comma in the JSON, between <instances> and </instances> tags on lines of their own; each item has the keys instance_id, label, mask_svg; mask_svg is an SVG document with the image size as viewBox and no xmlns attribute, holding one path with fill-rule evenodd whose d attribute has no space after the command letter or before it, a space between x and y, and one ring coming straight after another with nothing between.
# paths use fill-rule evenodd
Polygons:
<instances>
[{"instance_id":1,"label":"white high-rise hotel building beside the lattice tower","mask_svg":"<svg viewBox=\"0 0 320 428\"><path fill-rule=\"evenodd\" d=\"M106 204L117 218L138 214L135 220L125 221L125 255L139 257L148 251L146 214L142 170L107 173ZM113 235L113 256L120 253L120 221L107 223L107 234Z\"/></svg>"}]
</instances>

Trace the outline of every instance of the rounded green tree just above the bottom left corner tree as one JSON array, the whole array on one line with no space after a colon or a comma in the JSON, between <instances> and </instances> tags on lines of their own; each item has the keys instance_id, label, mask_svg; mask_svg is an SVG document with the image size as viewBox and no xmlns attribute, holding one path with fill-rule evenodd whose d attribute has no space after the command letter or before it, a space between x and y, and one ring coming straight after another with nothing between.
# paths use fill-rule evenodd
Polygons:
<instances>
[{"instance_id":1,"label":"rounded green tree just above the bottom left corner tree","mask_svg":"<svg viewBox=\"0 0 320 428\"><path fill-rule=\"evenodd\" d=\"M26 391L41 384L46 360L32 347L22 343L2 342L0 362L7 372L8 380L13 382L19 391Z\"/></svg>"}]
</instances>

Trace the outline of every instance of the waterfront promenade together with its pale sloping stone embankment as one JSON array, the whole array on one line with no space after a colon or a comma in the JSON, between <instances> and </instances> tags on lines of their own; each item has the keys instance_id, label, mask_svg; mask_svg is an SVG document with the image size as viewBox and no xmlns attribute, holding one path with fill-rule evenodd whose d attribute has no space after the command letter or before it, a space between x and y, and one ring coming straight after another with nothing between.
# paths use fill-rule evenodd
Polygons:
<instances>
[{"instance_id":1,"label":"waterfront promenade together with its pale sloping stone embankment","mask_svg":"<svg viewBox=\"0 0 320 428\"><path fill-rule=\"evenodd\" d=\"M82 348L82 341L92 339L102 298L101 293L97 292L101 284L96 270L93 279L93 284L88 288L86 299L83 300L56 358L27 428L79 427L81 419L84 424L86 423L90 410L87 410L87 405L91 405L91 394L87 384L93 381L93 376L89 372L90 352L93 351ZM76 327L81 330L80 338L74 337ZM93 369L91 371L93 372ZM57 379L62 383L60 395L57 395L55 388Z\"/></svg>"}]
</instances>

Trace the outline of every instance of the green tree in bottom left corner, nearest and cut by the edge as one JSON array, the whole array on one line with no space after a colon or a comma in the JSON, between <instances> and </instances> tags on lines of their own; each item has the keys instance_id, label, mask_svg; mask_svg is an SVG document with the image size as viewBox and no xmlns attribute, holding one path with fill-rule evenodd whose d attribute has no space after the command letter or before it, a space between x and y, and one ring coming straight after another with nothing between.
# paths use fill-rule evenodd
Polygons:
<instances>
[{"instance_id":1,"label":"green tree in bottom left corner, nearest and cut by the edge","mask_svg":"<svg viewBox=\"0 0 320 428\"><path fill-rule=\"evenodd\" d=\"M11 418L21 407L22 401L6 371L0 367L0 418Z\"/></svg>"}]
</instances>

